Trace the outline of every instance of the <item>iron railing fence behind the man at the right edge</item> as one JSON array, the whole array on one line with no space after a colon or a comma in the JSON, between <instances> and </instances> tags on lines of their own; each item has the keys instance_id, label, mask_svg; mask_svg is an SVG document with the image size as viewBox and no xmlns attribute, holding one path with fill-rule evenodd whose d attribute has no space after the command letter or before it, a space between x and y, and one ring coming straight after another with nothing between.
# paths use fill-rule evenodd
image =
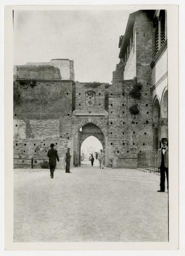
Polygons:
<instances>
[{"instance_id":1,"label":"iron railing fence behind the man at the right edge","mask_svg":"<svg viewBox=\"0 0 185 256\"><path fill-rule=\"evenodd\" d=\"M158 151L143 151L138 153L137 168L150 172L158 172Z\"/></svg>"}]
</instances>

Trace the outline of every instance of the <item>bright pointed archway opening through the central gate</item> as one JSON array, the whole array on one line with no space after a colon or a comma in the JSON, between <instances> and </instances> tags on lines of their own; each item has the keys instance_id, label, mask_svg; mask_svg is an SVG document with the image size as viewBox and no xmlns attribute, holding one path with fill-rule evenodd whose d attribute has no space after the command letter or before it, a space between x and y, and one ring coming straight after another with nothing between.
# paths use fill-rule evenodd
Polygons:
<instances>
[{"instance_id":1,"label":"bright pointed archway opening through the central gate","mask_svg":"<svg viewBox=\"0 0 185 256\"><path fill-rule=\"evenodd\" d=\"M94 136L89 136L86 138L80 148L81 153L81 166L91 166L91 161L89 161L89 157L91 154L94 157L93 166L99 166L98 160L96 159L96 154L103 149L102 143Z\"/></svg>"}]
</instances>

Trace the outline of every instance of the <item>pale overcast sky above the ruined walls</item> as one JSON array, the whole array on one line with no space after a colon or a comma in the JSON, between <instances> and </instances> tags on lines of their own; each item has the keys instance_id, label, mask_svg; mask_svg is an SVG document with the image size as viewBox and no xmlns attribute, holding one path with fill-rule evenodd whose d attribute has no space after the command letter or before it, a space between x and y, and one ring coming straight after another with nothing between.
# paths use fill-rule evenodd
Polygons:
<instances>
[{"instance_id":1,"label":"pale overcast sky above the ruined walls","mask_svg":"<svg viewBox=\"0 0 185 256\"><path fill-rule=\"evenodd\" d=\"M14 11L14 65L74 60L75 81L109 82L131 11Z\"/></svg>"}]
</instances>

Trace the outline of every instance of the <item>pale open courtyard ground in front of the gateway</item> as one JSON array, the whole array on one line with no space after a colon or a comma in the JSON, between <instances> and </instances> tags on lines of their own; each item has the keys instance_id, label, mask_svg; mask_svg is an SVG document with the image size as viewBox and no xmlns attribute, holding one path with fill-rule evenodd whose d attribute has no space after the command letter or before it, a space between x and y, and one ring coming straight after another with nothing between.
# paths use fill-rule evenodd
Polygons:
<instances>
[{"instance_id":1,"label":"pale open courtyard ground in front of the gateway","mask_svg":"<svg viewBox=\"0 0 185 256\"><path fill-rule=\"evenodd\" d=\"M14 242L168 241L168 193L136 169L14 169Z\"/></svg>"}]
</instances>

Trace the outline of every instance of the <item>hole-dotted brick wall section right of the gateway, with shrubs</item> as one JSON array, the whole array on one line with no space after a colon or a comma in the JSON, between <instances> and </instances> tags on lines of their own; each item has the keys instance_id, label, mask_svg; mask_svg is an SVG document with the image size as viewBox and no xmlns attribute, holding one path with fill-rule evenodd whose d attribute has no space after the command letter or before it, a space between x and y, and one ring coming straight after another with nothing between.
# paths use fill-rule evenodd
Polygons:
<instances>
[{"instance_id":1,"label":"hole-dotted brick wall section right of the gateway, with shrubs","mask_svg":"<svg viewBox=\"0 0 185 256\"><path fill-rule=\"evenodd\" d=\"M109 87L108 146L109 157L114 158L116 167L136 168L130 157L137 157L139 151L152 150L150 112L145 97L136 101L129 95L133 85L133 80L124 80ZM139 109L136 116L129 111L134 104Z\"/></svg>"}]
</instances>

